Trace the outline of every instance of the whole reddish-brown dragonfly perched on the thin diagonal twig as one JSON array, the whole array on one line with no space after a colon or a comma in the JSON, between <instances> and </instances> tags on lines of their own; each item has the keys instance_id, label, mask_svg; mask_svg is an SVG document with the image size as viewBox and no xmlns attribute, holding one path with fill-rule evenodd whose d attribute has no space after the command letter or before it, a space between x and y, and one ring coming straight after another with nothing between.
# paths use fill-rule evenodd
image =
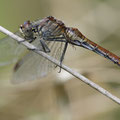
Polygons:
<instances>
[{"instance_id":1,"label":"whole reddish-brown dragonfly perched on the thin diagonal twig","mask_svg":"<svg viewBox=\"0 0 120 120\"><path fill-rule=\"evenodd\" d=\"M120 57L89 40L77 28L67 27L53 16L33 22L26 21L20 25L19 32L26 41L59 60L60 64L64 60L68 44L71 44L91 50L120 66ZM35 80L47 75L55 67L45 58L27 51L14 67L13 81L19 83Z\"/></svg>"}]
</instances>

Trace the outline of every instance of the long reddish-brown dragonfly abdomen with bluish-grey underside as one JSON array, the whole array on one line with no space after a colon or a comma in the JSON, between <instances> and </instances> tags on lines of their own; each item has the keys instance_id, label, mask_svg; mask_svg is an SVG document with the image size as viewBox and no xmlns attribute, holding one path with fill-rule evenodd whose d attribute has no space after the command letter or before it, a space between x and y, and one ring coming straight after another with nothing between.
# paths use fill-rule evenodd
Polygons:
<instances>
[{"instance_id":1,"label":"long reddish-brown dragonfly abdomen with bluish-grey underside","mask_svg":"<svg viewBox=\"0 0 120 120\"><path fill-rule=\"evenodd\" d=\"M92 42L91 40L86 38L78 29L68 27L66 33L68 38L67 40L69 43L91 50L120 65L120 57L99 46L98 44Z\"/></svg>"}]
</instances>

